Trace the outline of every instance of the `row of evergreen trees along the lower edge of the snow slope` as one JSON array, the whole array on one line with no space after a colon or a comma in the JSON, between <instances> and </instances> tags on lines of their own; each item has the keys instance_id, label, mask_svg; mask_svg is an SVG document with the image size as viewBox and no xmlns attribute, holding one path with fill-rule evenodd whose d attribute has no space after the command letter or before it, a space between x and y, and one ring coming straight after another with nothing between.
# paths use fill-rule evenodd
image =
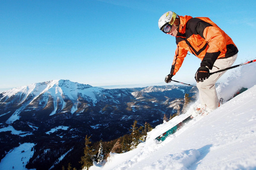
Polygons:
<instances>
[{"instance_id":1,"label":"row of evergreen trees along the lower edge of the snow slope","mask_svg":"<svg viewBox=\"0 0 256 170\"><path fill-rule=\"evenodd\" d=\"M147 138L147 132L150 132L152 127L149 123L145 122L143 126L138 126L138 121L135 120L130 129L130 134L125 134L120 138L111 141L98 141L92 143L91 137L86 135L84 141L84 155L81 157L82 164L81 169L89 169L93 163L103 164L107 161L107 158L113 154L121 154L135 149L139 143L145 142ZM65 170L65 166L62 166L62 170ZM68 170L76 170L71 164L68 164Z\"/></svg>"}]
</instances>

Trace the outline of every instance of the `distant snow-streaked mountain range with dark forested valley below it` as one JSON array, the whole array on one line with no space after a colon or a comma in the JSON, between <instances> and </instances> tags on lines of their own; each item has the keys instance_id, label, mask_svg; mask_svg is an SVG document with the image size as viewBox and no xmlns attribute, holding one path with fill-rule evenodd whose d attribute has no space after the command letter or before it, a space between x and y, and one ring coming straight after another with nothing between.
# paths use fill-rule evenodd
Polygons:
<instances>
[{"instance_id":1,"label":"distant snow-streaked mountain range with dark forested valley below it","mask_svg":"<svg viewBox=\"0 0 256 170\"><path fill-rule=\"evenodd\" d=\"M0 159L22 143L33 143L28 144L34 152L27 167L58 169L61 163L55 160L64 154L65 159L82 156L86 135L92 135L92 141L113 140L129 133L134 120L154 127L164 114L182 109L186 93L196 92L186 86L103 89L69 80L2 92Z\"/></svg>"}]
</instances>

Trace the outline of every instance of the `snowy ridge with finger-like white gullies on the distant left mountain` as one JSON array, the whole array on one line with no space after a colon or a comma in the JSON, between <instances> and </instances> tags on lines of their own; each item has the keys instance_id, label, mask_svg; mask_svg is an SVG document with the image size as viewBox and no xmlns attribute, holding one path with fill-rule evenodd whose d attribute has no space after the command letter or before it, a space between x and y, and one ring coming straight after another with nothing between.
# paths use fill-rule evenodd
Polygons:
<instances>
[{"instance_id":1,"label":"snowy ridge with finger-like white gullies on the distant left mountain","mask_svg":"<svg viewBox=\"0 0 256 170\"><path fill-rule=\"evenodd\" d=\"M7 120L7 123L13 123L18 119L19 112L23 111L26 107L33 108L37 106L37 108L45 108L47 105L51 105L49 103L51 100L53 100L54 109L50 115L58 113L58 109L62 111L65 108L65 99L68 99L73 103L73 107L70 109L70 112L74 113L77 110L74 107L78 104L77 101L79 94L81 94L83 98L86 98L95 104L98 100L94 93L102 90L102 88L92 87L88 84L71 82L69 80L52 80L33 83L28 86L22 86L20 88L5 91L0 97L0 104L3 105L4 103L8 103L8 100L13 100L12 98L14 98L16 101L16 103L13 103L14 106L18 107L22 105L22 107L18 109L18 112L14 113L10 120ZM61 108L59 108L60 106Z\"/></svg>"}]
</instances>

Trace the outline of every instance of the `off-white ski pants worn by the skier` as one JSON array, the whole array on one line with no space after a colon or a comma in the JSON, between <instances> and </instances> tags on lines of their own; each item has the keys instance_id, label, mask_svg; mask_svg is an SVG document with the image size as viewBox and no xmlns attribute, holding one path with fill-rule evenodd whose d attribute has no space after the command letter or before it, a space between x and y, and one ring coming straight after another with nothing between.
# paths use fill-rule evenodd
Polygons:
<instances>
[{"instance_id":1,"label":"off-white ski pants worn by the skier","mask_svg":"<svg viewBox=\"0 0 256 170\"><path fill-rule=\"evenodd\" d=\"M213 64L212 70L210 70L210 73L230 67L236 61L236 58L237 54L232 57L216 60ZM202 106L206 106L210 109L215 109L219 107L219 99L217 96L215 83L225 72L226 71L212 74L208 79L204 80L203 82L196 83L196 86L199 90L200 103Z\"/></svg>"}]
</instances>

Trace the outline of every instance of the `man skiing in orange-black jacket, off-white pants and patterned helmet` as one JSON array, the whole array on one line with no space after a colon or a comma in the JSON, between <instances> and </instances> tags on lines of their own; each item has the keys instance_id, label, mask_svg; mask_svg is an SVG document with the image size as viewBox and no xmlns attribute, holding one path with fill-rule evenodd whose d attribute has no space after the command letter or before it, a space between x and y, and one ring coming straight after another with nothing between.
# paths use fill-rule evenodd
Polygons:
<instances>
[{"instance_id":1,"label":"man skiing in orange-black jacket, off-white pants and patterned helmet","mask_svg":"<svg viewBox=\"0 0 256 170\"><path fill-rule=\"evenodd\" d=\"M215 83L225 72L211 76L210 73L230 67L235 62L238 49L233 40L209 18L179 16L172 11L161 16L158 27L167 35L176 37L177 44L171 72L165 77L165 82L171 82L190 52L202 61L195 74L201 107L217 108L219 99Z\"/></svg>"}]
</instances>

